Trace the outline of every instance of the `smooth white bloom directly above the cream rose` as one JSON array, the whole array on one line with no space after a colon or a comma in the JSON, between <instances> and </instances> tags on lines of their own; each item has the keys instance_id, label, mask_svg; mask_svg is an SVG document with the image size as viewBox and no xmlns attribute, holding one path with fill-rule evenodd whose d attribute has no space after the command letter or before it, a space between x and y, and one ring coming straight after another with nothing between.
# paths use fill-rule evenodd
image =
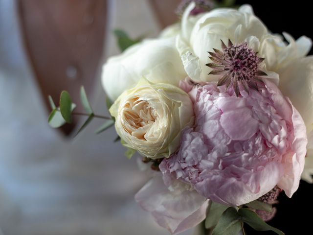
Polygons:
<instances>
[{"instance_id":1,"label":"smooth white bloom directly above the cream rose","mask_svg":"<svg viewBox=\"0 0 313 235\"><path fill-rule=\"evenodd\" d=\"M163 38L144 40L109 58L103 67L102 84L110 99L133 88L142 76L154 83L178 86L187 74L175 47L175 35L175 27L169 28Z\"/></svg>"}]
</instances>

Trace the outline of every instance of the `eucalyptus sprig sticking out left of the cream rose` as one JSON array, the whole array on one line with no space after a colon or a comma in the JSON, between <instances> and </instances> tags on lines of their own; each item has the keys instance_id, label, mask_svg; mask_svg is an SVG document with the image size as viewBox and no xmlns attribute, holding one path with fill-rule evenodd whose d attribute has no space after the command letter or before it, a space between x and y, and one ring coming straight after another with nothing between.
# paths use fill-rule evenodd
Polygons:
<instances>
[{"instance_id":1,"label":"eucalyptus sprig sticking out left of the cream rose","mask_svg":"<svg viewBox=\"0 0 313 235\"><path fill-rule=\"evenodd\" d=\"M48 118L48 123L53 128L59 128L66 123L72 123L72 116L75 116L75 115L88 117L86 121L84 122L84 124L79 128L76 135L78 135L82 130L84 130L93 118L106 119L103 125L100 126L99 129L96 131L97 134L100 134L101 132L107 130L108 128L114 125L114 122L115 122L114 118L96 115L93 112L93 109L90 105L90 102L88 100L84 87L81 87L80 99L81 99L82 105L86 113L74 112L76 108L76 104L72 102L70 94L67 91L63 91L61 93L58 107L54 104L53 99L50 95L48 96L48 99L49 99L49 103L52 109ZM112 105L112 102L109 100L109 98L107 98L108 109L110 108L111 105Z\"/></svg>"}]
</instances>

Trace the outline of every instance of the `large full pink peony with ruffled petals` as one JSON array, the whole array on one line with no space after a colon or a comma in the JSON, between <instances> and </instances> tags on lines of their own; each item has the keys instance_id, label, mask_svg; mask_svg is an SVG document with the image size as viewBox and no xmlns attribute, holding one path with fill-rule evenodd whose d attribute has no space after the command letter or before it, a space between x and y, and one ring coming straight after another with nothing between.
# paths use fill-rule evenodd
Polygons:
<instances>
[{"instance_id":1,"label":"large full pink peony with ruffled petals","mask_svg":"<svg viewBox=\"0 0 313 235\"><path fill-rule=\"evenodd\" d=\"M306 155L305 124L279 89L265 79L259 91L216 83L181 88L194 103L194 128L184 130L179 151L160 164L165 184L190 184L213 201L239 206L276 185L291 197Z\"/></svg>"}]
</instances>

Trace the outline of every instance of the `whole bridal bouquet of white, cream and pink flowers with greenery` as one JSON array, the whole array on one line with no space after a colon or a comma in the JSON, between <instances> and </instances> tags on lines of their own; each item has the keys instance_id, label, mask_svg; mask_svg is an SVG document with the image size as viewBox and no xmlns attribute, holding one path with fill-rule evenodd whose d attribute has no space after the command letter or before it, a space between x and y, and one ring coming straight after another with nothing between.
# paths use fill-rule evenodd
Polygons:
<instances>
[{"instance_id":1,"label":"whole bridal bouquet of white, cream and pink flowers with greenery","mask_svg":"<svg viewBox=\"0 0 313 235\"><path fill-rule=\"evenodd\" d=\"M249 5L206 7L191 2L158 38L108 60L112 118L99 131L114 124L126 155L138 152L151 165L135 200L172 234L205 221L207 234L245 233L246 223L282 235L265 221L313 157L312 41L284 33L284 42ZM82 99L93 118L84 90ZM66 92L52 106L50 122L57 113L70 122ZM304 179L311 173L308 166Z\"/></svg>"}]
</instances>

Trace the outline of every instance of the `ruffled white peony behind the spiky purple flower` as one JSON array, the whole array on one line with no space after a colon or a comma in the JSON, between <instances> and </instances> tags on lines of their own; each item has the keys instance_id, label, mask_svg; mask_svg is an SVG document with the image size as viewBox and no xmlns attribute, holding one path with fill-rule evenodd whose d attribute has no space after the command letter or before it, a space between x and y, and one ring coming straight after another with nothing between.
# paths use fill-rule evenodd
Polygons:
<instances>
[{"instance_id":1,"label":"ruffled white peony behind the spiky purple flower","mask_svg":"<svg viewBox=\"0 0 313 235\"><path fill-rule=\"evenodd\" d=\"M312 42L305 36L295 42L290 35L284 33L289 42L287 45L281 36L270 34L267 27L254 16L249 5L243 5L239 10L212 10L202 14L196 23L189 16L193 7L194 4L190 4L182 17L177 48L185 71L195 81L218 80L218 75L208 75L212 69L205 64L212 62L208 58L208 51L213 51L213 48L222 49L221 40L227 43L230 39L234 44L246 42L248 47L265 58L261 64L262 69L275 73L292 60L305 56L311 48ZM278 84L279 76L273 72L267 73Z\"/></svg>"}]
</instances>

